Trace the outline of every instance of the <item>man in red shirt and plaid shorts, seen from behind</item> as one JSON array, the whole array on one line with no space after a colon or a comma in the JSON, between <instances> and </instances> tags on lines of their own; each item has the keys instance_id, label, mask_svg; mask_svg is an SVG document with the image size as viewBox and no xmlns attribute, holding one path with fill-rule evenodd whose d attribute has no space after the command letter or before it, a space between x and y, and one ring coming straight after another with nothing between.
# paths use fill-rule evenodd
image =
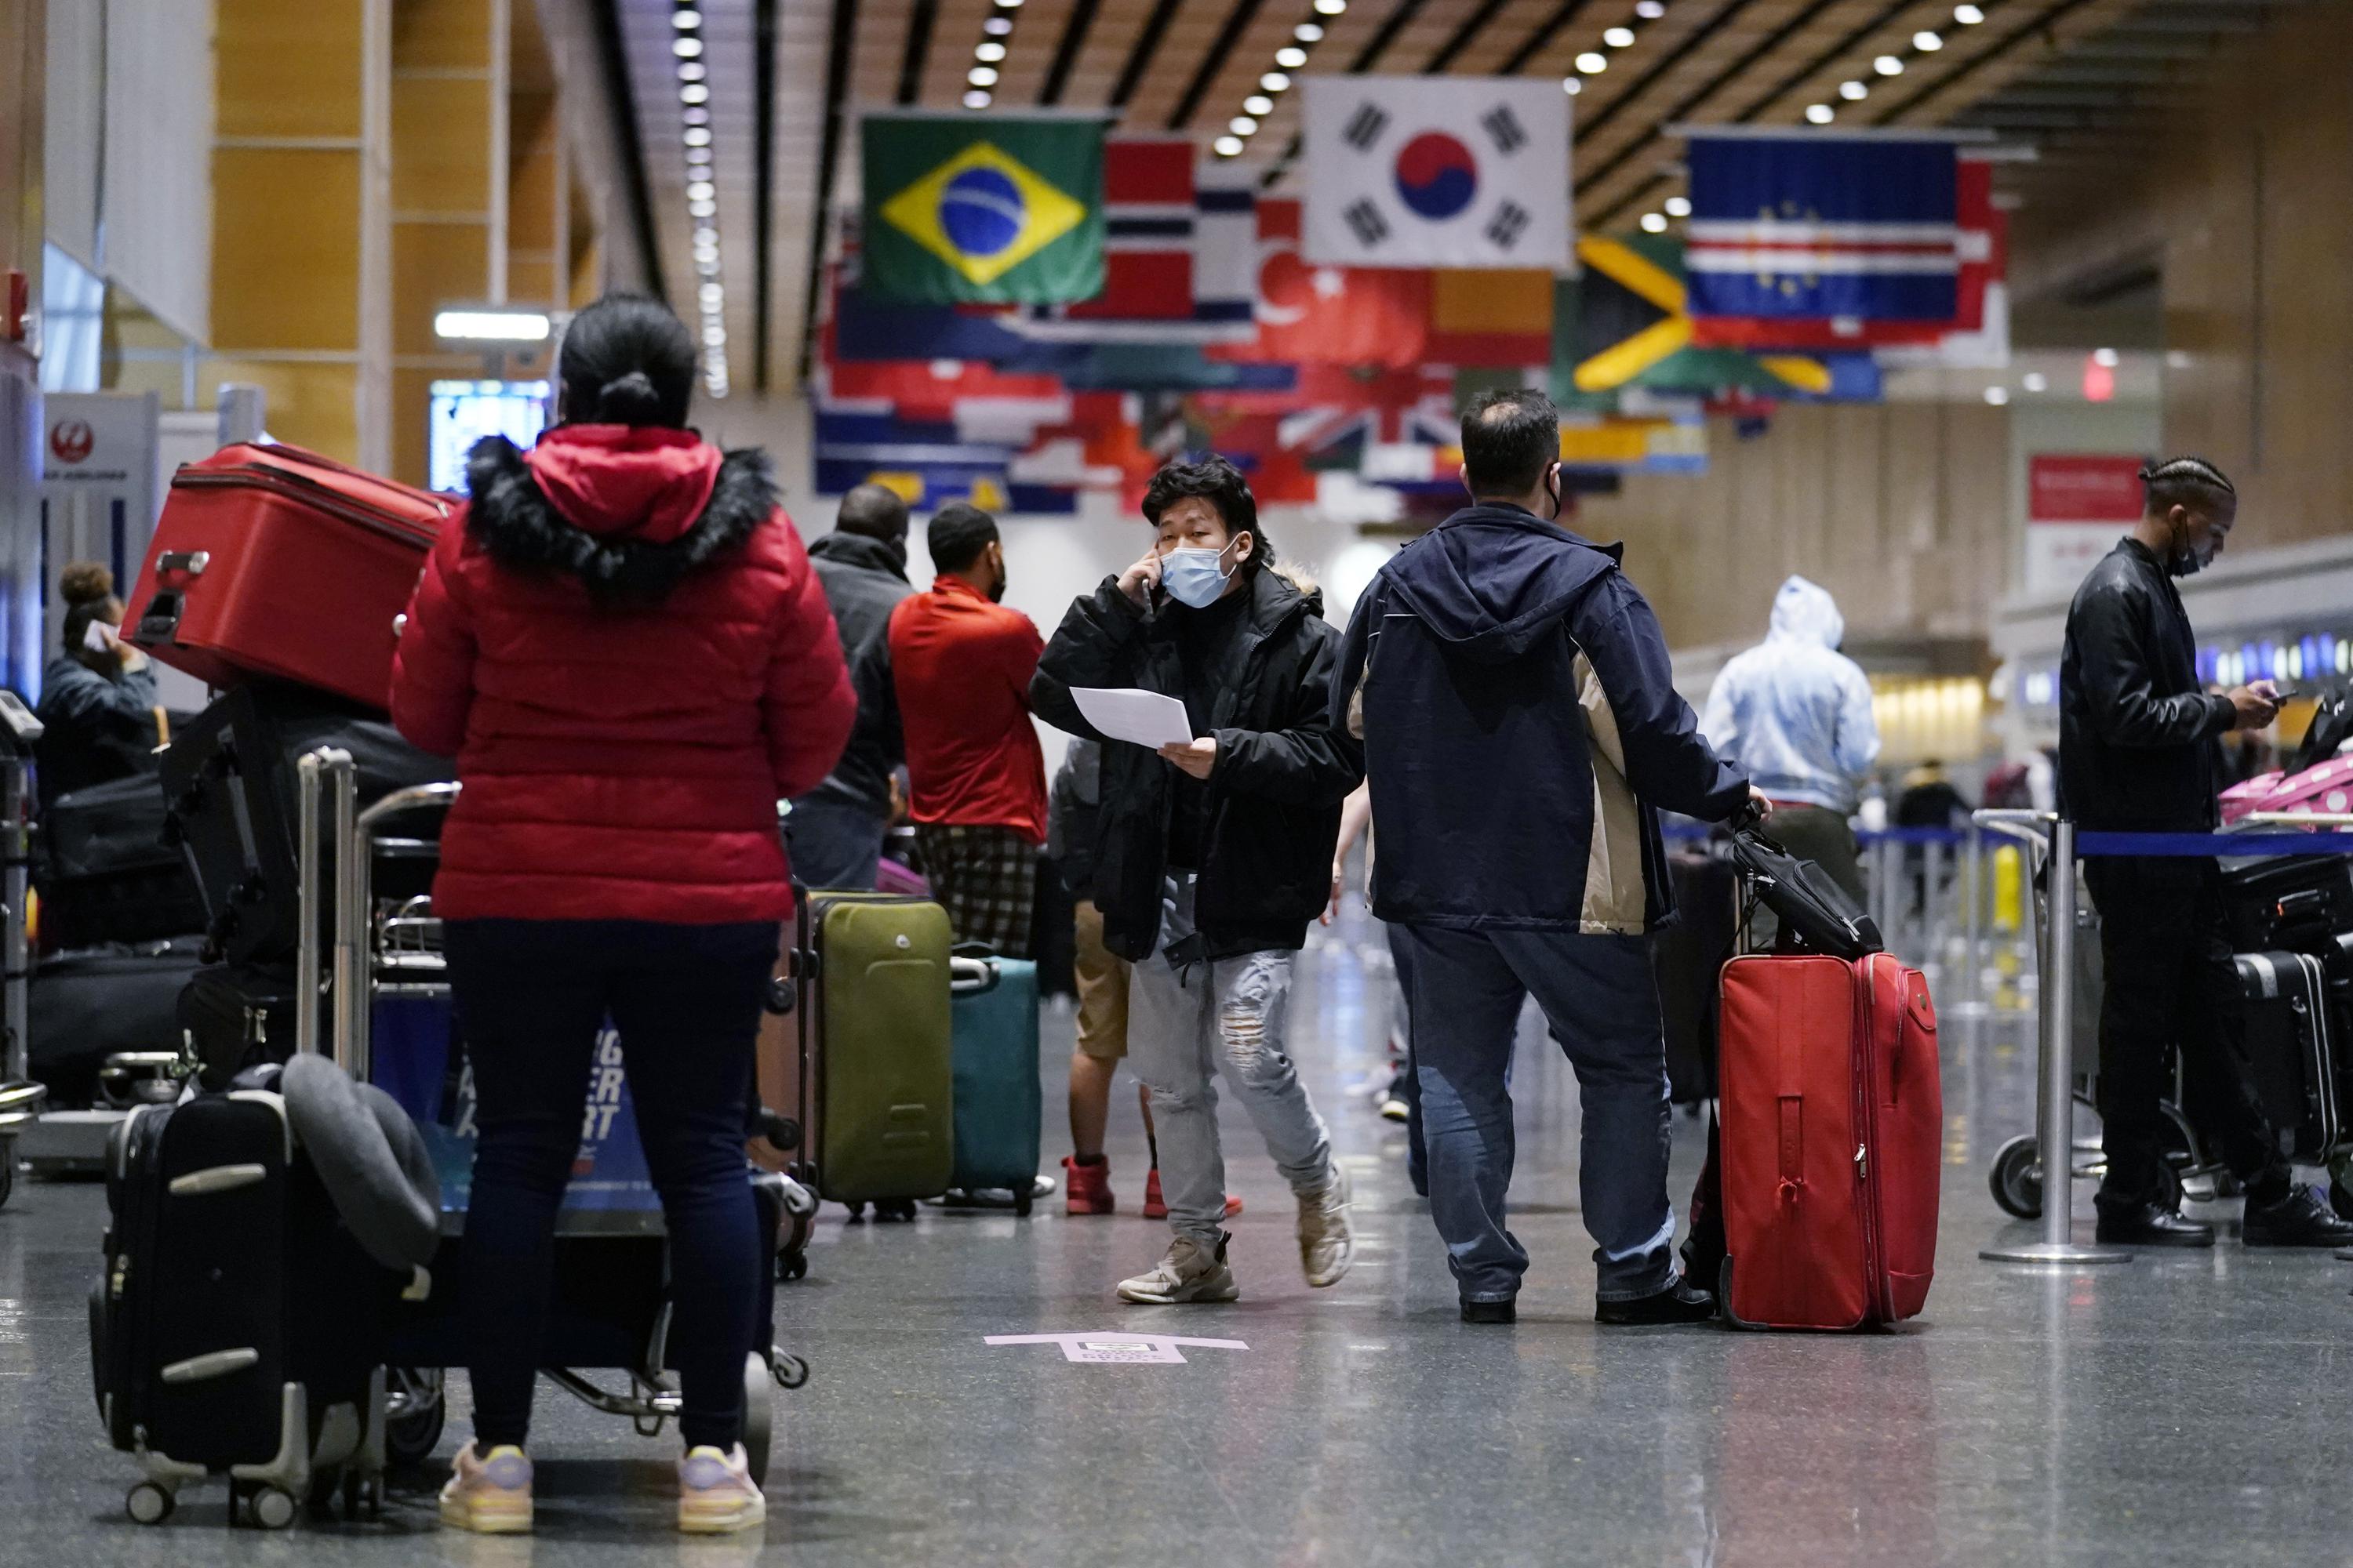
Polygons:
<instances>
[{"instance_id":1,"label":"man in red shirt and plaid shorts, seen from behind","mask_svg":"<svg viewBox=\"0 0 2353 1568\"><path fill-rule=\"evenodd\" d=\"M889 618L892 686L913 795L915 846L960 943L1031 957L1045 755L1028 684L1045 639L1005 609L998 520L962 501L929 527L929 592Z\"/></svg>"}]
</instances>

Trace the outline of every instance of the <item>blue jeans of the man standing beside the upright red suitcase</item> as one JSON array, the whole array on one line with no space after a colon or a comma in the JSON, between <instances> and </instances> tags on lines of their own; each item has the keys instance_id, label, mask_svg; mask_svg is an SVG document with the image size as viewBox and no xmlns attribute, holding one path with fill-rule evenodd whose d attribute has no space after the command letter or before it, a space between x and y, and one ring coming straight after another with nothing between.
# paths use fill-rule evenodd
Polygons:
<instances>
[{"instance_id":1,"label":"blue jeans of the man standing beside the upright red suitcase","mask_svg":"<svg viewBox=\"0 0 2353 1568\"><path fill-rule=\"evenodd\" d=\"M1527 1251L1504 1229L1504 1194L1513 1161L1506 1072L1529 994L1577 1070L1577 1182L1595 1241L1595 1293L1635 1300L1668 1288L1666 1034L1645 938L1407 926L1405 943L1431 1218L1464 1300L1511 1300L1527 1272Z\"/></svg>"}]
</instances>

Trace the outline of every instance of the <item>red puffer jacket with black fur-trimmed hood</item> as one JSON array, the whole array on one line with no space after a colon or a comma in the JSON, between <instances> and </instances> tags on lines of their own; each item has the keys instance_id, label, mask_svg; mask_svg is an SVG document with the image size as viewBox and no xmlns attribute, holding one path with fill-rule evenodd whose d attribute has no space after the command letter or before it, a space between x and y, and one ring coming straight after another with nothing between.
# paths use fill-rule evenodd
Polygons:
<instances>
[{"instance_id":1,"label":"red puffer jacket with black fur-trimmed hood","mask_svg":"<svg viewBox=\"0 0 2353 1568\"><path fill-rule=\"evenodd\" d=\"M760 451L558 425L466 463L393 658L393 724L456 755L445 919L769 922L776 802L856 701Z\"/></svg>"}]
</instances>

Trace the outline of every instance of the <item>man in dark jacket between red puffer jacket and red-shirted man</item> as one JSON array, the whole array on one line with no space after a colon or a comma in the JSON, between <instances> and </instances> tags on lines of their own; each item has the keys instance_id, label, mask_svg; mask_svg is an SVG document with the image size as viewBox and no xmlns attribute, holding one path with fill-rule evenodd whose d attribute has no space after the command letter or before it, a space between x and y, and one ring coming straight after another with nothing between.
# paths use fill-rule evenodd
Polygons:
<instances>
[{"instance_id":1,"label":"man in dark jacket between red puffer jacket and red-shirted man","mask_svg":"<svg viewBox=\"0 0 2353 1568\"><path fill-rule=\"evenodd\" d=\"M809 564L842 635L859 726L833 773L793 802L793 875L816 889L871 889L889 827L889 773L899 757L887 738L889 614L906 583L906 501L880 484L842 496L833 531L809 541Z\"/></svg>"}]
</instances>

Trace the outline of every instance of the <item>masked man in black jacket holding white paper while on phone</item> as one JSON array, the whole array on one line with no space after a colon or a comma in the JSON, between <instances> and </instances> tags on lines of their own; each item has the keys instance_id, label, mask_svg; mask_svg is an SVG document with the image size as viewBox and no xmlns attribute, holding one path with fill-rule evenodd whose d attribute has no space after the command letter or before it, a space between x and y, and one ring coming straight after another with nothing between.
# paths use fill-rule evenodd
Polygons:
<instances>
[{"instance_id":1,"label":"masked man in black jacket holding white paper while on phone","mask_svg":"<svg viewBox=\"0 0 2353 1568\"><path fill-rule=\"evenodd\" d=\"M1299 1265L1339 1284L1353 1260L1348 1182L1285 1051L1292 959L1322 914L1339 809L1362 776L1332 724L1339 632L1322 595L1275 567L1240 470L1169 463L1144 494L1153 548L1071 604L1031 684L1047 724L1096 736L1073 686L1181 698L1193 741L1104 741L1094 903L1134 961L1127 1063L1151 1091L1174 1232L1132 1302L1231 1302L1217 1086L1242 1100L1299 1199ZM1101 736L1096 736L1101 738Z\"/></svg>"}]
</instances>

